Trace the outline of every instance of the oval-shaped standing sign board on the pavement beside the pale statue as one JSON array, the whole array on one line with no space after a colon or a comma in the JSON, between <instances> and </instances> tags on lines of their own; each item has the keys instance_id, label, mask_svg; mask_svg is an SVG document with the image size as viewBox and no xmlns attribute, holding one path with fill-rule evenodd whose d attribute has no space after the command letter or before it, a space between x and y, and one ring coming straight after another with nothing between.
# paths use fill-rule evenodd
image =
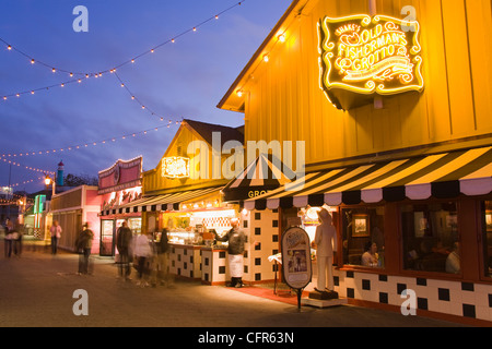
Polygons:
<instances>
[{"instance_id":1,"label":"oval-shaped standing sign board on the pavement beside the pale statue","mask_svg":"<svg viewBox=\"0 0 492 349\"><path fill-rule=\"evenodd\" d=\"M282 234L282 272L285 284L293 289L303 289L311 282L311 242L302 228L292 227Z\"/></svg>"}]
</instances>

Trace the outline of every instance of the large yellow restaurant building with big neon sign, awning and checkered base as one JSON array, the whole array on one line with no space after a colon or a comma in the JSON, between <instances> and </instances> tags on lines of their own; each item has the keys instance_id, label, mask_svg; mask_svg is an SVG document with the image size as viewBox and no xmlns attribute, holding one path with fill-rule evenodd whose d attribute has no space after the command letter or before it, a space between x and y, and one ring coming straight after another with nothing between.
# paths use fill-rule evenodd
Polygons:
<instances>
[{"instance_id":1,"label":"large yellow restaurant building with big neon sign, awning and checkered base","mask_svg":"<svg viewBox=\"0 0 492 349\"><path fill-rule=\"evenodd\" d=\"M329 206L341 297L490 322L491 3L412 4L293 1L219 107L245 142L304 142L305 174L245 208Z\"/></svg>"}]
</instances>

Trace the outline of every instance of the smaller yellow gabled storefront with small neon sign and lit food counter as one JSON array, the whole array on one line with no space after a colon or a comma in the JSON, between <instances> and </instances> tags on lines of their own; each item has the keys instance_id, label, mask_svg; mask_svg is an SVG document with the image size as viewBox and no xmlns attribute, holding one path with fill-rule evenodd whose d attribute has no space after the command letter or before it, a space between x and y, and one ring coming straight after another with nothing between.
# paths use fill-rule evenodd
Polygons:
<instances>
[{"instance_id":1,"label":"smaller yellow gabled storefront with small neon sign and lit food counter","mask_svg":"<svg viewBox=\"0 0 492 349\"><path fill-rule=\"evenodd\" d=\"M152 238L168 230L169 270L179 278L209 285L229 279L226 245L214 243L214 232L231 229L239 206L223 201L229 180L215 169L226 166L224 145L242 152L243 137L234 128L184 120L157 167L143 172L143 197L124 206L141 213L142 230Z\"/></svg>"}]
</instances>

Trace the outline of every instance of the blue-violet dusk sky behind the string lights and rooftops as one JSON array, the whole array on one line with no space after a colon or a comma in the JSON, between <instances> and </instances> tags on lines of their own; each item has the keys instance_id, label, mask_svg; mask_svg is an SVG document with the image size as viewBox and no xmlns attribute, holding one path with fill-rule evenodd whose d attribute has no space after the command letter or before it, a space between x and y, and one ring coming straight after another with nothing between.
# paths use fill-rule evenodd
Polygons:
<instances>
[{"instance_id":1,"label":"blue-violet dusk sky behind the string lights and rooftops","mask_svg":"<svg viewBox=\"0 0 492 349\"><path fill-rule=\"evenodd\" d=\"M237 3L2 0L0 185L9 184L11 168L14 191L42 190L44 174L26 167L56 171L60 160L66 174L96 177L118 159L142 155L143 168L150 170L175 135L176 121L242 125L243 115L216 105L291 1ZM89 11L89 32L73 29L77 5ZM162 45L227 9L218 20ZM116 74L108 72L125 62ZM96 79L92 74L97 72L104 73ZM143 134L145 130L151 131ZM15 165L10 167L9 160Z\"/></svg>"}]
</instances>

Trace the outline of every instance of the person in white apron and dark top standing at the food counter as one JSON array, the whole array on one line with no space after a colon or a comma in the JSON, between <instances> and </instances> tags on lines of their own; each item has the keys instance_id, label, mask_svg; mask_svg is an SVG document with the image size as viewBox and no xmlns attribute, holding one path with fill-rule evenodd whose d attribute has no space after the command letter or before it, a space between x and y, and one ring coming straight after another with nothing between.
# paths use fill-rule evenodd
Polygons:
<instances>
[{"instance_id":1,"label":"person in white apron and dark top standing at the food counter","mask_svg":"<svg viewBox=\"0 0 492 349\"><path fill-rule=\"evenodd\" d=\"M231 287L243 287L244 273L244 245L247 242L247 237L242 229L239 229L239 218L231 218L232 229L223 237L219 237L215 232L218 241L229 242L229 268L231 273Z\"/></svg>"}]
</instances>

